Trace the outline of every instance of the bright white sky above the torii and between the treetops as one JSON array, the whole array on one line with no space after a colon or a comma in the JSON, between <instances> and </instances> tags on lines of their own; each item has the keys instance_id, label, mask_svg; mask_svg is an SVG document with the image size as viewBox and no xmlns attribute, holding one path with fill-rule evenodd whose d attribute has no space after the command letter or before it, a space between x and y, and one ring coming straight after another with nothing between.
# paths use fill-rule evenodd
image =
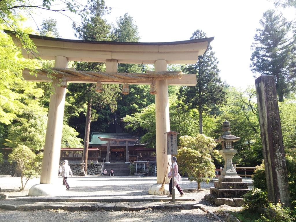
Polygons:
<instances>
[{"instance_id":1,"label":"bright white sky above the torii and between the treetops","mask_svg":"<svg viewBox=\"0 0 296 222\"><path fill-rule=\"evenodd\" d=\"M221 79L242 89L254 85L250 47L263 12L274 8L271 1L105 0L105 4L112 8L105 17L109 23L116 24L116 19L126 12L133 17L141 42L188 40L195 30L203 30L207 37L215 37L210 45L219 61ZM38 25L44 16L57 19L61 38L75 39L70 19L42 12L36 18ZM285 10L284 16L294 19L295 9Z\"/></svg>"}]
</instances>

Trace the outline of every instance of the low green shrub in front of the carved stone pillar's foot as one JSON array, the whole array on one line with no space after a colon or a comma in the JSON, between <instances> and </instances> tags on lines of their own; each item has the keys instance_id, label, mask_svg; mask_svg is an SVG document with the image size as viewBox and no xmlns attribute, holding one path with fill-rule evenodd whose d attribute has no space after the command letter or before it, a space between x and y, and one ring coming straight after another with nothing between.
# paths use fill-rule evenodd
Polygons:
<instances>
[{"instance_id":1,"label":"low green shrub in front of the carved stone pillar's foot","mask_svg":"<svg viewBox=\"0 0 296 222\"><path fill-rule=\"evenodd\" d=\"M292 222L295 221L295 212L282 204L268 203L268 207L261 217L254 222Z\"/></svg>"}]
</instances>

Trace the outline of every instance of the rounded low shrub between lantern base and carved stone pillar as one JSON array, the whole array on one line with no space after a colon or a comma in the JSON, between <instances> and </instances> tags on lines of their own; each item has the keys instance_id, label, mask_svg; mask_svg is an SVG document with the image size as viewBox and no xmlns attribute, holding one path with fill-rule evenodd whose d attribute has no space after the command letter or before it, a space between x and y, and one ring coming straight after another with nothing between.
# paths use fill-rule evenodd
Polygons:
<instances>
[{"instance_id":1,"label":"rounded low shrub between lantern base and carved stone pillar","mask_svg":"<svg viewBox=\"0 0 296 222\"><path fill-rule=\"evenodd\" d=\"M258 211L258 208L264 208L268 206L267 192L258 188L254 188L243 195L244 208L250 211Z\"/></svg>"}]
</instances>

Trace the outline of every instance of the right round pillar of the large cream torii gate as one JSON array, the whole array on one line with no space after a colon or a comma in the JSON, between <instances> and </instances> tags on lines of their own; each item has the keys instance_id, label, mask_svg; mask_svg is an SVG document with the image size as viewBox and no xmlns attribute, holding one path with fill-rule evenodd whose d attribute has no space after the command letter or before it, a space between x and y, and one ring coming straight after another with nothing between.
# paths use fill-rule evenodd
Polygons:
<instances>
[{"instance_id":1,"label":"right round pillar of the large cream torii gate","mask_svg":"<svg viewBox=\"0 0 296 222\"><path fill-rule=\"evenodd\" d=\"M156 60L155 72L166 71L167 61ZM170 112L168 102L168 80L157 80L157 94L155 94L155 122L156 122L156 165L157 165L157 184L150 186L148 193L152 195L169 194L168 185L165 190L160 191L160 186L165 177L165 184L169 183L168 177L165 175L168 168L169 156L166 154L166 134L170 131Z\"/></svg>"}]
</instances>

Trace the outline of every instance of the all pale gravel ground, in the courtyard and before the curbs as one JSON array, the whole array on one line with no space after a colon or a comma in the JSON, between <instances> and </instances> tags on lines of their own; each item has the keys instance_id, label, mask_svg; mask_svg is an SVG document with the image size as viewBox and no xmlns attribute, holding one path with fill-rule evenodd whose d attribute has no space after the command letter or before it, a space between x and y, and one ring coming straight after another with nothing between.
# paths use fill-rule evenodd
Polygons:
<instances>
[{"instance_id":1,"label":"all pale gravel ground, in the courtyard and before the curbs","mask_svg":"<svg viewBox=\"0 0 296 222\"><path fill-rule=\"evenodd\" d=\"M9 196L8 200L0 200L0 204L7 203L13 205L40 204L34 202L24 202L14 200L17 197L26 197L28 190L34 184L39 183L39 178L33 178L28 181L24 191L19 191L20 178L0 175L1 194ZM62 178L58 180L62 182ZM244 180L244 179L243 179ZM132 197L142 198L151 197L148 194L149 186L156 183L155 177L139 176L73 176L68 178L71 189L65 191L65 197ZM205 205L202 209L194 210L141 210L141 211L87 211L87 212L69 212L63 210L34 210L34 211L10 211L0 210L0 222L6 221L223 221L223 217L217 215L217 212L223 210L239 210L241 207L220 207L211 205L209 202L202 200L205 194L210 193L210 187L214 186L213 182L209 184L202 183L201 191L196 191L197 183L190 182L187 178L182 178L181 188L186 192L185 198L194 198L195 201L186 201L179 203L192 203ZM178 192L176 197L178 197ZM57 203L55 203L57 204ZM65 203L66 205L79 205L81 203ZM91 203L89 203L91 204ZM95 203L93 203L95 204ZM162 205L171 204L170 202L133 202L119 203L128 205ZM176 202L178 204L178 202ZM213 213L216 212L216 213ZM219 213L218 213L219 214Z\"/></svg>"}]
</instances>

